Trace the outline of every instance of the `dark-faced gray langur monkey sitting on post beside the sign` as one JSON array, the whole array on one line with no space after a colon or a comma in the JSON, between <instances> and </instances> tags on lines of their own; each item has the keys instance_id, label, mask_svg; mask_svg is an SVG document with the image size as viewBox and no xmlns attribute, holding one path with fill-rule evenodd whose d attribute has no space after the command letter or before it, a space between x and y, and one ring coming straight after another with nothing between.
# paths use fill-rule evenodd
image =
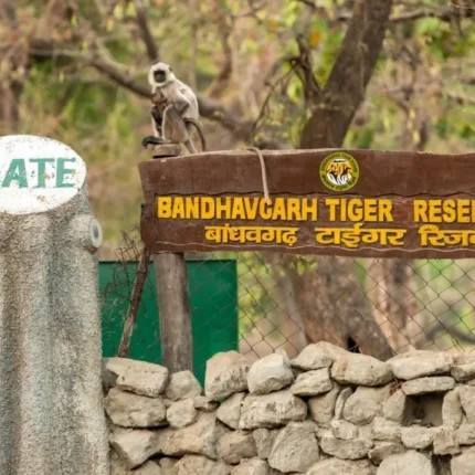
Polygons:
<instances>
[{"instance_id":1,"label":"dark-faced gray langur monkey sitting on post beside the sign","mask_svg":"<svg viewBox=\"0 0 475 475\"><path fill-rule=\"evenodd\" d=\"M196 154L197 150L190 139L191 127L194 127L204 151L205 140L199 123L198 99L191 87L177 80L166 63L157 63L150 67L148 82L154 103L151 123L155 136L144 138L142 146L183 144L190 154Z\"/></svg>"}]
</instances>

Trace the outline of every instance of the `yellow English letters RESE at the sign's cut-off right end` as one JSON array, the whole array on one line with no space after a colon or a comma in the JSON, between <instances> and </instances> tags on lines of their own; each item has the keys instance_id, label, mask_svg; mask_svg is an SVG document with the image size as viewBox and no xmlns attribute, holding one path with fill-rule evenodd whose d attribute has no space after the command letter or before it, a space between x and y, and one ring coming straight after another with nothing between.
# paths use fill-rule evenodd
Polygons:
<instances>
[{"instance_id":1,"label":"yellow English letters RESE at the sign's cut-off right end","mask_svg":"<svg viewBox=\"0 0 475 475\"><path fill-rule=\"evenodd\" d=\"M475 200L414 200L416 223L475 223Z\"/></svg>"}]
</instances>

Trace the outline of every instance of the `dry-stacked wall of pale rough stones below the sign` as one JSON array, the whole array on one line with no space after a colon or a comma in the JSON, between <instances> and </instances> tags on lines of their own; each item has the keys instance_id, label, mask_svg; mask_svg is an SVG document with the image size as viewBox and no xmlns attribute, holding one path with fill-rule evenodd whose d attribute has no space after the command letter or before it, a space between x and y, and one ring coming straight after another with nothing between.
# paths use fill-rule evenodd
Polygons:
<instances>
[{"instance_id":1,"label":"dry-stacked wall of pale rough stones below the sign","mask_svg":"<svg viewBox=\"0 0 475 475\"><path fill-rule=\"evenodd\" d=\"M387 362L326 342L251 367L235 351L190 371L104 361L112 474L468 475L475 355Z\"/></svg>"}]
</instances>

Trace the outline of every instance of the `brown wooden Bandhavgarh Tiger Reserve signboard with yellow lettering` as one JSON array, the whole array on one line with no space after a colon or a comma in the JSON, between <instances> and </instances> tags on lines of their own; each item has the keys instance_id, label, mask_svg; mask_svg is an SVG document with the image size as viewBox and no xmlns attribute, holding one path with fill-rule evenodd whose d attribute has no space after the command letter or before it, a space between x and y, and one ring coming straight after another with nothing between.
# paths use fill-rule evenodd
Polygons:
<instances>
[{"instance_id":1,"label":"brown wooden Bandhavgarh Tiger Reserve signboard with yellow lettering","mask_svg":"<svg viewBox=\"0 0 475 475\"><path fill-rule=\"evenodd\" d=\"M141 162L154 252L475 256L475 154L288 150Z\"/></svg>"}]
</instances>

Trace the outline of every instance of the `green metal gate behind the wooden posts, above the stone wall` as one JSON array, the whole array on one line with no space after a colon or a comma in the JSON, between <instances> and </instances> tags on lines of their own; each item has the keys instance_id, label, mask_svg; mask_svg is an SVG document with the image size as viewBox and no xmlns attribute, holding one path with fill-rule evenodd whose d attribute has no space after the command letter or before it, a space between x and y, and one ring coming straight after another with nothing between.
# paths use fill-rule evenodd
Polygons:
<instances>
[{"instance_id":1,"label":"green metal gate behind the wooden posts, above the stone wall","mask_svg":"<svg viewBox=\"0 0 475 475\"><path fill-rule=\"evenodd\" d=\"M219 351L238 349L238 278L232 260L189 261L194 374L204 381L205 362ZM101 262L98 266L103 356L117 353L137 271L136 262ZM134 328L129 357L160 363L160 330L152 264Z\"/></svg>"}]
</instances>

